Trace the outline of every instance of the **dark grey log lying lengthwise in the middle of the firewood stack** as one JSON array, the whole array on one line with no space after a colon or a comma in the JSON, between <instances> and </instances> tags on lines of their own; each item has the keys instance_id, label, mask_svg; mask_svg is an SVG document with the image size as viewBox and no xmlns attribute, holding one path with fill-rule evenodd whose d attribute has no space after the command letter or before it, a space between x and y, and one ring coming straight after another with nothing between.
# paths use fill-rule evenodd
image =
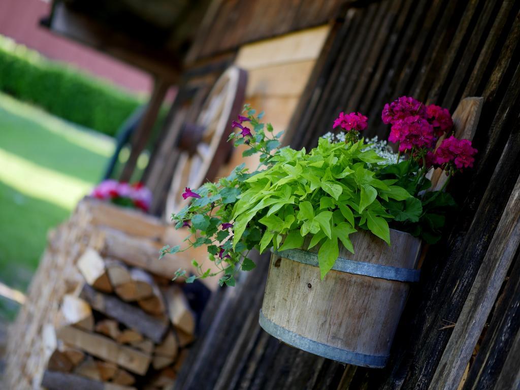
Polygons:
<instances>
[{"instance_id":1,"label":"dark grey log lying lengthwise in the middle of the firewood stack","mask_svg":"<svg viewBox=\"0 0 520 390\"><path fill-rule=\"evenodd\" d=\"M152 317L142 309L121 302L115 296L103 294L85 285L80 296L101 313L117 319L125 326L135 329L155 343L161 342L168 329L165 318Z\"/></svg>"}]
</instances>

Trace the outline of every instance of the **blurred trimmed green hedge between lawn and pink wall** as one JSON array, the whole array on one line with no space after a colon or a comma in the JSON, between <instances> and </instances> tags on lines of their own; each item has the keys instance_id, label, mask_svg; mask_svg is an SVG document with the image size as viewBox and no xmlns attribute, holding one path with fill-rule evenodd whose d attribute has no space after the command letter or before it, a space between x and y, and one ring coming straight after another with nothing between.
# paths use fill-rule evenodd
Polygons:
<instances>
[{"instance_id":1,"label":"blurred trimmed green hedge between lawn and pink wall","mask_svg":"<svg viewBox=\"0 0 520 390\"><path fill-rule=\"evenodd\" d=\"M0 90L68 121L114 135L142 98L0 35Z\"/></svg>"}]
</instances>

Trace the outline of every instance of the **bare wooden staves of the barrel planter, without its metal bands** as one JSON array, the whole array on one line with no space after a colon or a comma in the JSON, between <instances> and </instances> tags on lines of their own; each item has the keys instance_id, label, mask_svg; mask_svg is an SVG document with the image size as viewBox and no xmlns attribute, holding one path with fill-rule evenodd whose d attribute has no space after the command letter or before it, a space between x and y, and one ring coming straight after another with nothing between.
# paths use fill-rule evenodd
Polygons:
<instances>
[{"instance_id":1,"label":"bare wooden staves of the barrel planter, without its metal bands","mask_svg":"<svg viewBox=\"0 0 520 390\"><path fill-rule=\"evenodd\" d=\"M340 257L415 268L420 240L391 230L392 246L368 232L352 237L355 254ZM284 329L322 344L371 356L387 356L409 284L319 268L273 255L262 311ZM348 297L348 299L345 299Z\"/></svg>"}]
</instances>

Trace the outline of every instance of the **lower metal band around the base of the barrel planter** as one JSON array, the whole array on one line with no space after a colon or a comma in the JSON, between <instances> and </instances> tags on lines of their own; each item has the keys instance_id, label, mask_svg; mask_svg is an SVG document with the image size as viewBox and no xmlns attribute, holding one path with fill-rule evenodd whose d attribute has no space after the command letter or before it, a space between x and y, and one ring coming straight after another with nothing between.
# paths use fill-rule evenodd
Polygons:
<instances>
[{"instance_id":1,"label":"lower metal band around the base of the barrel planter","mask_svg":"<svg viewBox=\"0 0 520 390\"><path fill-rule=\"evenodd\" d=\"M311 354L323 356L327 359L371 368L383 368L385 367L386 361L388 360L388 356L359 354L357 352L332 347L330 345L307 339L307 337L291 332L290 330L282 328L281 326L272 322L264 316L262 310L260 310L258 322L267 333L276 337L278 340L283 341L285 344L303 349L306 352L310 352Z\"/></svg>"}]
</instances>

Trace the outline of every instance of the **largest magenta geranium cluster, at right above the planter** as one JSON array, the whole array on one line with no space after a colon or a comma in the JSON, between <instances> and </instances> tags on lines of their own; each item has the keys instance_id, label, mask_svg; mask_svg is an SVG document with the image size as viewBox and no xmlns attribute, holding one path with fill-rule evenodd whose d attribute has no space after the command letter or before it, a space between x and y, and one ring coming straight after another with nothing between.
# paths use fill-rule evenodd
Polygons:
<instances>
[{"instance_id":1,"label":"largest magenta geranium cluster, at right above the planter","mask_svg":"<svg viewBox=\"0 0 520 390\"><path fill-rule=\"evenodd\" d=\"M469 139L451 136L433 151L437 140L453 127L453 120L446 108L424 106L412 97L401 96L385 105L381 118L384 123L392 125L388 140L398 143L400 152L412 151L421 165L425 162L428 168L449 168L452 164L458 170L473 166L477 150Z\"/></svg>"}]
</instances>

